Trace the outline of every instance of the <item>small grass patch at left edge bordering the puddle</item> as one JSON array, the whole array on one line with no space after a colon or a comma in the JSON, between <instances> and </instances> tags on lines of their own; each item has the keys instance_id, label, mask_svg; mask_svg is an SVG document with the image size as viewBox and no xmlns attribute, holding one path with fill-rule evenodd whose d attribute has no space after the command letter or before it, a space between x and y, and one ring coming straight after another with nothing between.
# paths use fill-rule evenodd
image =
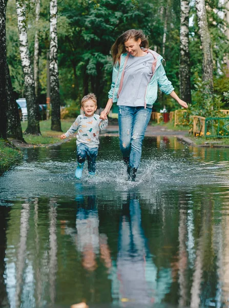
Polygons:
<instances>
[{"instance_id":1,"label":"small grass patch at left edge bordering the puddle","mask_svg":"<svg viewBox=\"0 0 229 308\"><path fill-rule=\"evenodd\" d=\"M5 140L0 139L0 173L7 170L22 158L20 150L12 147Z\"/></svg>"}]
</instances>

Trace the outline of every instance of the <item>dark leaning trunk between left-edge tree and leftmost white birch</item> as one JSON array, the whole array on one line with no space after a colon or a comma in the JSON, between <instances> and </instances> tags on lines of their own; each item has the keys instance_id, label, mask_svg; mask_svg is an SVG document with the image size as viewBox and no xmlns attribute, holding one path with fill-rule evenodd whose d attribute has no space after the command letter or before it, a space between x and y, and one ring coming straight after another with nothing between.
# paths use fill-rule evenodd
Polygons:
<instances>
[{"instance_id":1,"label":"dark leaning trunk between left-edge tree and leftmost white birch","mask_svg":"<svg viewBox=\"0 0 229 308\"><path fill-rule=\"evenodd\" d=\"M19 112L15 99L13 98L13 89L10 79L10 71L8 65L5 68L6 76L6 93L7 93L7 137L22 140L22 125L20 125Z\"/></svg>"}]
</instances>

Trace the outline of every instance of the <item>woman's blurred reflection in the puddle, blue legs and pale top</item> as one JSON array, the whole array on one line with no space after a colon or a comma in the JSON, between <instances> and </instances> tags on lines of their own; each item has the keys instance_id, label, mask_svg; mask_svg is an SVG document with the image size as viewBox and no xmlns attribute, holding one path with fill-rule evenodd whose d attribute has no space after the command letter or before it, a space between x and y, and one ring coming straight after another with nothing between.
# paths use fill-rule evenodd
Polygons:
<instances>
[{"instance_id":1,"label":"woman's blurred reflection in the puddle, blue legs and pale top","mask_svg":"<svg viewBox=\"0 0 229 308\"><path fill-rule=\"evenodd\" d=\"M141 226L141 210L135 194L123 205L119 225L117 274L113 277L114 301L123 306L150 305L160 302L170 290L170 269L157 269L150 255L147 239ZM118 290L117 290L118 288ZM116 290L115 290L116 289Z\"/></svg>"}]
</instances>

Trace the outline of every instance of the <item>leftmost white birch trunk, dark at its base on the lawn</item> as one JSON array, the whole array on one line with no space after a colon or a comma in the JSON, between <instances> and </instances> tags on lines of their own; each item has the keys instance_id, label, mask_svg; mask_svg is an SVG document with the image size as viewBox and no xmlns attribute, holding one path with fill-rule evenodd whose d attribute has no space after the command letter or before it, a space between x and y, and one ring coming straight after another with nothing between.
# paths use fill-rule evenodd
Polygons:
<instances>
[{"instance_id":1,"label":"leftmost white birch trunk, dark at its base on the lawn","mask_svg":"<svg viewBox=\"0 0 229 308\"><path fill-rule=\"evenodd\" d=\"M20 42L19 50L25 79L25 98L28 109L28 127L25 133L39 135L39 106L36 104L33 71L29 55L28 35L26 29L26 7L21 0L16 0L16 11Z\"/></svg>"}]
</instances>

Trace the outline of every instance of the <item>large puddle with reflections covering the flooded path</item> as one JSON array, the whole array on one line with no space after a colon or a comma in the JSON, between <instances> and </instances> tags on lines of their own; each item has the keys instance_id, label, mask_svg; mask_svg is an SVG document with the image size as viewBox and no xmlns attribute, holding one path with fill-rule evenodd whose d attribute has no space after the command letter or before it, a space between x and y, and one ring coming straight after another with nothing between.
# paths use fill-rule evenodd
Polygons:
<instances>
[{"instance_id":1,"label":"large puddle with reflections covering the flooded path","mask_svg":"<svg viewBox=\"0 0 229 308\"><path fill-rule=\"evenodd\" d=\"M229 149L145 138L132 183L100 140L95 178L74 140L0 177L0 307L228 307Z\"/></svg>"}]
</instances>

